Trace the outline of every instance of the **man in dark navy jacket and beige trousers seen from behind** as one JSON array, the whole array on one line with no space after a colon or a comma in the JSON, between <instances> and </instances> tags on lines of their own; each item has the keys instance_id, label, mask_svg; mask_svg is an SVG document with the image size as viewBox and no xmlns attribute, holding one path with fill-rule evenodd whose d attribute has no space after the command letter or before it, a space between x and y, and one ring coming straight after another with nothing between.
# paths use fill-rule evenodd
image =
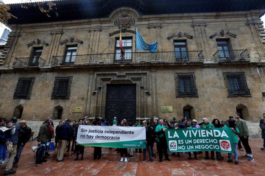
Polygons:
<instances>
[{"instance_id":1,"label":"man in dark navy jacket and beige trousers seen from behind","mask_svg":"<svg viewBox=\"0 0 265 176\"><path fill-rule=\"evenodd\" d=\"M72 121L70 119L66 119L65 123L60 125L58 128L58 147L57 147L57 161L64 160L64 150L67 145L67 140L71 138L73 135L73 131L71 126L69 125Z\"/></svg>"}]
</instances>

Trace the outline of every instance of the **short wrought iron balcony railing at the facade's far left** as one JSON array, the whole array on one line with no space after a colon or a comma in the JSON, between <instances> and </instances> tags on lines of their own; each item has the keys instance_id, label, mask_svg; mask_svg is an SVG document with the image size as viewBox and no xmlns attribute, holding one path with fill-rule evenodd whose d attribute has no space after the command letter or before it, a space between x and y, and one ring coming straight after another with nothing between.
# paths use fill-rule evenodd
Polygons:
<instances>
[{"instance_id":1,"label":"short wrought iron balcony railing at the facade's far left","mask_svg":"<svg viewBox=\"0 0 265 176\"><path fill-rule=\"evenodd\" d=\"M31 58L16 58L13 63L13 68L23 68L23 67L43 67L45 61L40 57Z\"/></svg>"}]
</instances>

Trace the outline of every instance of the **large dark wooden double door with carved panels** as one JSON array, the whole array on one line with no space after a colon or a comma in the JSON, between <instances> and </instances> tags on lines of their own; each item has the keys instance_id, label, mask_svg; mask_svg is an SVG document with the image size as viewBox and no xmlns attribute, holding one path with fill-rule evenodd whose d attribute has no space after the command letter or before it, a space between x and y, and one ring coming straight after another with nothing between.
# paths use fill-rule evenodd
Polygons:
<instances>
[{"instance_id":1,"label":"large dark wooden double door with carved panels","mask_svg":"<svg viewBox=\"0 0 265 176\"><path fill-rule=\"evenodd\" d=\"M136 121L136 84L107 84L105 119L111 123L114 117L120 122Z\"/></svg>"}]
</instances>

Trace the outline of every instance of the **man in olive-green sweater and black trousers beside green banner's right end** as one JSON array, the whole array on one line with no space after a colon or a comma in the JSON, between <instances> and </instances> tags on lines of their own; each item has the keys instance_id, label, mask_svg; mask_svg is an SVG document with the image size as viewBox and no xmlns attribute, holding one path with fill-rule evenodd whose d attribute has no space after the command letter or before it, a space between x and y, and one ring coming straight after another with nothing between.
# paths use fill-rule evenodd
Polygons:
<instances>
[{"instance_id":1,"label":"man in olive-green sweater and black trousers beside green banner's right end","mask_svg":"<svg viewBox=\"0 0 265 176\"><path fill-rule=\"evenodd\" d=\"M248 125L246 124L245 120L241 119L241 114L236 113L235 118L237 119L236 121L236 127L239 130L239 138L242 142L242 144L245 147L246 150L246 155L243 156L242 158L248 158L249 161L254 161L254 158L252 156L251 148L249 146L249 129Z\"/></svg>"}]
</instances>

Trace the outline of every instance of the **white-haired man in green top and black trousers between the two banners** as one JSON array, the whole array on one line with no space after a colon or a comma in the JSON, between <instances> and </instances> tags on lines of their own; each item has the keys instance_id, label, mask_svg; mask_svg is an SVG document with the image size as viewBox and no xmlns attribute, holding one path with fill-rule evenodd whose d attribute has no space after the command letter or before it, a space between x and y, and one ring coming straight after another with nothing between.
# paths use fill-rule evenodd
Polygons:
<instances>
[{"instance_id":1,"label":"white-haired man in green top and black trousers between the two banners","mask_svg":"<svg viewBox=\"0 0 265 176\"><path fill-rule=\"evenodd\" d=\"M164 121L163 119L159 120L159 124L155 128L155 135L157 136L157 142L158 142L158 151L159 151L159 162L162 162L163 159L163 153L165 156L165 159L170 161L168 158L168 145L167 140L165 137L165 126L163 125Z\"/></svg>"}]
</instances>

